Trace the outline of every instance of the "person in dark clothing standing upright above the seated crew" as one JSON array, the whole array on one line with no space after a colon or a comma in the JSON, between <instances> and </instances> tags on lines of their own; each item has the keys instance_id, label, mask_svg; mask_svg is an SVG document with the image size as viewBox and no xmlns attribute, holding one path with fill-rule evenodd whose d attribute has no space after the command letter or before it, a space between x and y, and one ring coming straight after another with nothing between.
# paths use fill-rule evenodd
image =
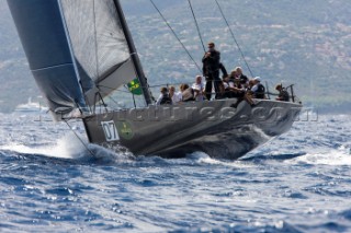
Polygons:
<instances>
[{"instance_id":1,"label":"person in dark clothing standing upright above the seated crew","mask_svg":"<svg viewBox=\"0 0 351 233\"><path fill-rule=\"evenodd\" d=\"M219 68L220 68L220 53L215 49L215 44L213 42L208 43L208 51L204 55L203 59L203 74L206 78L206 98L210 101L212 96L212 83L214 83L216 98L219 95L218 83L222 81L219 79Z\"/></svg>"}]
</instances>

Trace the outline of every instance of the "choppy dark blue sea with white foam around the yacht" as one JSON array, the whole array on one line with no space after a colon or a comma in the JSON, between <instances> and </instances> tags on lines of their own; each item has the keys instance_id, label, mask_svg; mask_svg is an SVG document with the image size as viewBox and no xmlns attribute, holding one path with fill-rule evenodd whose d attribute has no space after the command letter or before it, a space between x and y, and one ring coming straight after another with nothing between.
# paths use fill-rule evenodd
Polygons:
<instances>
[{"instance_id":1,"label":"choppy dark blue sea with white foam around the yacht","mask_svg":"<svg viewBox=\"0 0 351 233\"><path fill-rule=\"evenodd\" d=\"M351 232L351 116L315 115L238 161L88 150L0 115L0 232Z\"/></svg>"}]
</instances>

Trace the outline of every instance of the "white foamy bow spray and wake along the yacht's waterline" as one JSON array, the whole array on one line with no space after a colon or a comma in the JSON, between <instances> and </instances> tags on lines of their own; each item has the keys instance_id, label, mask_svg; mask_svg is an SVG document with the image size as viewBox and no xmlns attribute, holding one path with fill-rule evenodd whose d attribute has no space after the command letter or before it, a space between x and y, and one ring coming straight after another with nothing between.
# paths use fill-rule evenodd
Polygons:
<instances>
[{"instance_id":1,"label":"white foamy bow spray and wake along the yacht's waterline","mask_svg":"<svg viewBox=\"0 0 351 233\"><path fill-rule=\"evenodd\" d=\"M83 136L80 136L83 138ZM72 132L68 132L63 138L54 141L48 145L25 145L22 143L10 143L0 147L0 151L20 154L25 158L35 156L36 159L53 159L61 160L75 164L129 164L134 162L150 162L160 163L158 156L140 156L136 159L125 148L106 149L97 144L89 144ZM251 166L258 165L264 161L276 161L291 164L309 164L309 165L351 165L351 145L341 145L338 149L322 148L318 151L316 149L296 153L273 153L265 154L262 151L248 154L237 161L225 161L211 158L203 152L191 153L184 160L166 160L170 164L195 163L197 165L222 165L222 166ZM143 159L144 158L144 159ZM157 159L155 159L157 158ZM161 159L163 161L163 159ZM157 162L158 161L158 162ZM166 162L163 161L163 162Z\"/></svg>"}]
</instances>

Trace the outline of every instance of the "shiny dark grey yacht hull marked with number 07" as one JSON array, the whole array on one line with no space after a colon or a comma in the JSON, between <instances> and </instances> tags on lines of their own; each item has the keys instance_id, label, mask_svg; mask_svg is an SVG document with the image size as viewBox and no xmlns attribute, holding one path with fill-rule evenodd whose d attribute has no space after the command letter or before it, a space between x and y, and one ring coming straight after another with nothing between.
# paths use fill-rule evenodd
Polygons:
<instances>
[{"instance_id":1,"label":"shiny dark grey yacht hull marked with number 07","mask_svg":"<svg viewBox=\"0 0 351 233\"><path fill-rule=\"evenodd\" d=\"M180 158L203 151L212 158L236 160L286 132L302 105L276 101L236 100L150 106L97 114L83 119L91 143L121 145L135 155ZM118 136L116 136L118 135Z\"/></svg>"}]
</instances>

